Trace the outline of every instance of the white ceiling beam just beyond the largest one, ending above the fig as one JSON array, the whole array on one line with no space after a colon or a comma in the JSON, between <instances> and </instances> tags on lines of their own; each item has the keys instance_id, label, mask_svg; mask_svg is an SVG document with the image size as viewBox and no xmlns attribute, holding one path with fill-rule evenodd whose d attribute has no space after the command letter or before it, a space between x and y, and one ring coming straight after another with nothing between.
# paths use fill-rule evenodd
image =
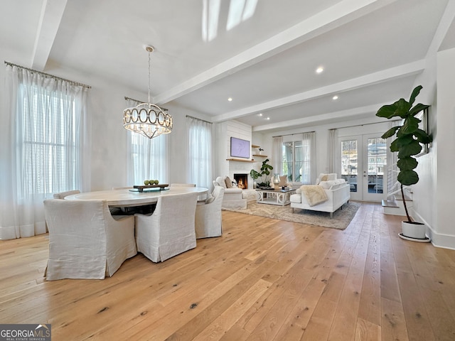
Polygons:
<instances>
[{"instance_id":1,"label":"white ceiling beam just beyond the largest one, ending above the fig","mask_svg":"<svg viewBox=\"0 0 455 341\"><path fill-rule=\"evenodd\" d=\"M327 85L326 87L319 87L314 90L301 92L299 94L293 94L291 96L274 99L269 102L255 104L251 107L238 109L233 112L220 114L216 117L213 117L212 121L220 122L228 121L229 119L237 119L239 117L244 117L250 114L264 112L269 109L277 109L279 107L285 107L291 104L306 102L311 99L316 99L319 97L324 97L332 94L340 94L341 92L355 90L360 87L375 85L380 82L385 82L387 80L394 80L397 78L407 77L410 75L417 75L418 73L424 70L425 63L426 63L425 60L417 60L417 62L400 65L397 67L390 67L390 69L387 70L373 72L370 73L369 75L363 75L360 77L352 78L350 80L345 80L343 82Z\"/></svg>"}]
</instances>

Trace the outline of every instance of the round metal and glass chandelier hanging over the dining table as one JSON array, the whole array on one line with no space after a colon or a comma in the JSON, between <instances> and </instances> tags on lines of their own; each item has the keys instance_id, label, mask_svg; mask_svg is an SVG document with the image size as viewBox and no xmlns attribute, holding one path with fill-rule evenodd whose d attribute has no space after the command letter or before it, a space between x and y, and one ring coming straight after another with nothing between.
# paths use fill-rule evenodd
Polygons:
<instances>
[{"instance_id":1,"label":"round metal and glass chandelier hanging over the dining table","mask_svg":"<svg viewBox=\"0 0 455 341\"><path fill-rule=\"evenodd\" d=\"M172 131L172 117L166 109L161 109L158 105L150 103L150 54L154 48L146 46L145 50L149 53L149 102L124 109L123 126L125 129L153 139Z\"/></svg>"}]
</instances>

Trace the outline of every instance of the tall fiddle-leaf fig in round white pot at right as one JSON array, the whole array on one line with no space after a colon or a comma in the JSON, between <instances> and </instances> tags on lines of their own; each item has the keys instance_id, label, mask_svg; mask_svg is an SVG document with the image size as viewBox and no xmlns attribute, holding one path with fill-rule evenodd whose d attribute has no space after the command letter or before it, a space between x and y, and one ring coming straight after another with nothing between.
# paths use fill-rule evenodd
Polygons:
<instances>
[{"instance_id":1,"label":"tall fiddle-leaf fig in round white pot at right","mask_svg":"<svg viewBox=\"0 0 455 341\"><path fill-rule=\"evenodd\" d=\"M412 107L420 90L422 90L422 85L415 87L409 102L401 98L393 104L382 106L376 116L385 117L386 119L394 117L404 119L402 125L392 127L381 136L382 139L395 136L395 140L390 144L390 151L398 153L397 167L400 169L400 173L398 173L397 180L400 183L407 217L407 221L402 222L402 234L400 234L400 237L429 242L429 239L425 236L426 225L422 224L422 222L414 222L410 217L403 190L403 186L410 186L419 182L419 175L414 171L418 165L416 156L422 151L422 144L432 142L432 136L427 134L426 131L419 129L421 120L416 117L419 112L427 109L429 105L418 103Z\"/></svg>"}]
</instances>

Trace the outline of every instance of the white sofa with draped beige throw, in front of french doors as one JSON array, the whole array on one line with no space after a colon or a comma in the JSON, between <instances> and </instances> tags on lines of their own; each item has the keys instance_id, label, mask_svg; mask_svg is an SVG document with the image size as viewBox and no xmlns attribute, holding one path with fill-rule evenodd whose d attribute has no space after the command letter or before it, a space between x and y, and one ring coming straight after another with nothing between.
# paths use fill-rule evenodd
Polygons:
<instances>
[{"instance_id":1,"label":"white sofa with draped beige throw, in front of french doors","mask_svg":"<svg viewBox=\"0 0 455 341\"><path fill-rule=\"evenodd\" d=\"M323 176L321 176L323 175ZM310 206L304 193L301 193L300 188L296 190L296 194L291 195L291 208L294 212L294 208L300 208L302 210L312 210L320 212L329 212L330 217L333 217L333 212L342 207L350 199L350 187L344 179L336 179L336 174L325 177L321 174L316 181L317 185L320 185L327 195L328 200L321 202L318 205ZM323 181L320 181L322 177L325 177ZM327 180L326 180L327 179ZM328 180L333 179L333 180Z\"/></svg>"}]
</instances>

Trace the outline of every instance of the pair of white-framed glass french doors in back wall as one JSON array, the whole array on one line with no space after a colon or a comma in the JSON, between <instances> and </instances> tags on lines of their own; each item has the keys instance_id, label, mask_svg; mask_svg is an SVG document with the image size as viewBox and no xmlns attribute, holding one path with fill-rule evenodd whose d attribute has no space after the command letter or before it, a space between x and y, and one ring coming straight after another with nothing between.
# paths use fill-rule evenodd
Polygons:
<instances>
[{"instance_id":1,"label":"pair of white-framed glass french doors in back wall","mask_svg":"<svg viewBox=\"0 0 455 341\"><path fill-rule=\"evenodd\" d=\"M341 177L350 185L350 198L360 201L380 201L384 187L387 152L380 134L340 138Z\"/></svg>"}]
</instances>

